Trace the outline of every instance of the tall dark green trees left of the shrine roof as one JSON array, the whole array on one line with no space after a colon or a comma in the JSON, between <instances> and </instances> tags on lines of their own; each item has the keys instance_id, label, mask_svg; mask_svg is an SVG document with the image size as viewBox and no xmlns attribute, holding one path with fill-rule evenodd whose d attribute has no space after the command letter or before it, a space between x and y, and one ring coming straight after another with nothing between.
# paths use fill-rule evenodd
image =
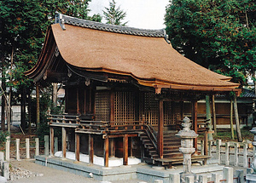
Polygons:
<instances>
[{"instance_id":1,"label":"tall dark green trees left of the shrine roof","mask_svg":"<svg viewBox=\"0 0 256 183\"><path fill-rule=\"evenodd\" d=\"M7 81L10 91L11 87L20 91L17 96L21 94L22 104L26 105L26 94L33 87L32 81L24 76L24 71L37 62L47 27L54 22L55 11L101 21L99 14L88 16L89 2L90 0L0 0L2 83ZM21 113L21 126L25 129L26 117L24 112Z\"/></svg>"}]
</instances>

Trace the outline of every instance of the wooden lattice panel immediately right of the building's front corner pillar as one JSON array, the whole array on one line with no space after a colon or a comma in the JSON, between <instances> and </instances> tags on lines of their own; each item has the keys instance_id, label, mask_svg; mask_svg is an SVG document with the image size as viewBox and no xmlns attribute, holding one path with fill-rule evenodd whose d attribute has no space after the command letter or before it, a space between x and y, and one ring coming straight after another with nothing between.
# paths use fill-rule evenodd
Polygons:
<instances>
[{"instance_id":1,"label":"wooden lattice panel immediately right of the building's front corner pillar","mask_svg":"<svg viewBox=\"0 0 256 183\"><path fill-rule=\"evenodd\" d=\"M130 122L135 120L135 97L132 92L116 92L114 101L114 120Z\"/></svg>"}]
</instances>

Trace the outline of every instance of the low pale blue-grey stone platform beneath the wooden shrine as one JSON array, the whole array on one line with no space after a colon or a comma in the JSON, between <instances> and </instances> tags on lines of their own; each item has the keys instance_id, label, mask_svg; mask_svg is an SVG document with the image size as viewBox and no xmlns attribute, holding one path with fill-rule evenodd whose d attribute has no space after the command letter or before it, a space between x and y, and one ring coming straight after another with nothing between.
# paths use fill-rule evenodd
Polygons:
<instances>
[{"instance_id":1,"label":"low pale blue-grey stone platform beneath the wooden shrine","mask_svg":"<svg viewBox=\"0 0 256 183\"><path fill-rule=\"evenodd\" d=\"M146 163L138 165L127 165L119 167L105 168L95 164L74 162L69 159L61 159L60 157L35 157L36 163L53 169L68 171L73 174L79 174L84 177L91 177L100 181L112 180L143 180L154 182L154 180L163 180L163 183L169 183L171 174L179 174L183 171L183 166L177 166L176 169L164 169L163 167L154 167ZM212 172L222 171L224 166L218 164L193 166L192 172L195 174L208 174Z\"/></svg>"}]
</instances>

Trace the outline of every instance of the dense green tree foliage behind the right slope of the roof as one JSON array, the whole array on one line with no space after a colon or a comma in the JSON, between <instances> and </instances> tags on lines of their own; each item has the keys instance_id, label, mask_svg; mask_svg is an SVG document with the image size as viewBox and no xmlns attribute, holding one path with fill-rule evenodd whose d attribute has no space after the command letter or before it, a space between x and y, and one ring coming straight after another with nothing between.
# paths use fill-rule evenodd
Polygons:
<instances>
[{"instance_id":1,"label":"dense green tree foliage behind the right slope of the roof","mask_svg":"<svg viewBox=\"0 0 256 183\"><path fill-rule=\"evenodd\" d=\"M255 20L253 0L173 0L165 17L177 51L241 84L256 69Z\"/></svg>"}]
</instances>

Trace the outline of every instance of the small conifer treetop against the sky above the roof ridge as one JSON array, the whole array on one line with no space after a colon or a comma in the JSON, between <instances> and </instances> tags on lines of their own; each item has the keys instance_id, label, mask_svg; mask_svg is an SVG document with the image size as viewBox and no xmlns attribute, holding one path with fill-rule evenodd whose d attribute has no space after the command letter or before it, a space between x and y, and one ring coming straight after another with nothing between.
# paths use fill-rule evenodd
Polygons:
<instances>
[{"instance_id":1,"label":"small conifer treetop against the sky above the roof ridge","mask_svg":"<svg viewBox=\"0 0 256 183\"><path fill-rule=\"evenodd\" d=\"M122 20L125 19L126 12L120 9L120 7L117 7L114 0L109 2L109 8L105 7L103 14L104 18L107 20L107 24L126 26L128 23L127 21L122 23Z\"/></svg>"}]
</instances>

